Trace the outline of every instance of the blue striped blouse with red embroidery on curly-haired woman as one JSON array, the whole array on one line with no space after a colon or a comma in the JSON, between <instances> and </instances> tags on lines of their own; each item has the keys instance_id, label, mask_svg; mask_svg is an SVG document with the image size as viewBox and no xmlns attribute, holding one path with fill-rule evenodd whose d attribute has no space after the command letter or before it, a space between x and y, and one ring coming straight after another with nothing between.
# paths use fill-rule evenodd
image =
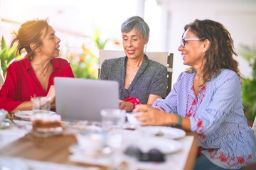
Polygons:
<instances>
[{"instance_id":1,"label":"blue striped blouse with red embroidery on curly-haired woman","mask_svg":"<svg viewBox=\"0 0 256 170\"><path fill-rule=\"evenodd\" d=\"M183 72L165 99L153 107L188 117L191 131L199 135L202 153L225 169L240 169L256 162L256 138L247 125L238 75L223 69L198 91L193 91L194 73Z\"/></svg>"}]
</instances>

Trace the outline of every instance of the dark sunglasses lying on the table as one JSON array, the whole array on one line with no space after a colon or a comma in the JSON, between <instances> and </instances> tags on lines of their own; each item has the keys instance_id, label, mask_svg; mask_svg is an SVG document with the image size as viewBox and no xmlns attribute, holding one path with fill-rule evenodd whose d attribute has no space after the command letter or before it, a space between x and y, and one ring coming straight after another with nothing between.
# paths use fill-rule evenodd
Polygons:
<instances>
[{"instance_id":1,"label":"dark sunglasses lying on the table","mask_svg":"<svg viewBox=\"0 0 256 170\"><path fill-rule=\"evenodd\" d=\"M136 157L141 162L165 162L165 154L159 149L154 148L145 153L138 147L132 145L124 150L124 154L127 154L130 157Z\"/></svg>"}]
</instances>

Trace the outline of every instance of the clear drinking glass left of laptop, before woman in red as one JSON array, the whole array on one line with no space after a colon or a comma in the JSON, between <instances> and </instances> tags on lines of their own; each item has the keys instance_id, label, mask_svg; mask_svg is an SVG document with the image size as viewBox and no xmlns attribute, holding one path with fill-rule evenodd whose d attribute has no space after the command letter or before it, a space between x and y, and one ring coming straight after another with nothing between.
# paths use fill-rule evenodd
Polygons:
<instances>
[{"instance_id":1,"label":"clear drinking glass left of laptop, before woman in red","mask_svg":"<svg viewBox=\"0 0 256 170\"><path fill-rule=\"evenodd\" d=\"M36 113L50 113L50 97L33 97L32 112Z\"/></svg>"}]
</instances>

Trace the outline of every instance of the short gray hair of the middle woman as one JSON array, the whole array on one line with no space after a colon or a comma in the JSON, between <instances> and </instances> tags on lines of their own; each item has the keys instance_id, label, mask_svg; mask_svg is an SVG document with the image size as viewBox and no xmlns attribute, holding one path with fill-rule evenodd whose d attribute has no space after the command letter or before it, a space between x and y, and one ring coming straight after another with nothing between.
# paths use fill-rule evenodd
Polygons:
<instances>
[{"instance_id":1,"label":"short gray hair of the middle woman","mask_svg":"<svg viewBox=\"0 0 256 170\"><path fill-rule=\"evenodd\" d=\"M149 26L139 16L132 16L128 18L121 26L122 33L129 33L133 28L137 29L137 34L142 33L144 40L149 39Z\"/></svg>"}]
</instances>

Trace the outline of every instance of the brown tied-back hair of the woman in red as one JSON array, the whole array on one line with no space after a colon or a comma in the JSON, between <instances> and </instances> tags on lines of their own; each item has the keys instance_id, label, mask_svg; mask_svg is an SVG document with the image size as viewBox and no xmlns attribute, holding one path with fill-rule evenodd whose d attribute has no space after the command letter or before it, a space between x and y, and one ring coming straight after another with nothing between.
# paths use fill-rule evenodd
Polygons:
<instances>
[{"instance_id":1,"label":"brown tied-back hair of the woman in red","mask_svg":"<svg viewBox=\"0 0 256 170\"><path fill-rule=\"evenodd\" d=\"M17 44L16 55L21 55L21 50L25 49L28 53L28 57L32 60L34 55L34 50L31 49L31 43L36 43L36 47L42 45L41 35L43 35L42 30L48 29L48 18L46 20L33 20L26 21L21 25L21 28L18 29L18 33L14 31L14 38L11 40L11 47L14 44Z\"/></svg>"}]
</instances>

